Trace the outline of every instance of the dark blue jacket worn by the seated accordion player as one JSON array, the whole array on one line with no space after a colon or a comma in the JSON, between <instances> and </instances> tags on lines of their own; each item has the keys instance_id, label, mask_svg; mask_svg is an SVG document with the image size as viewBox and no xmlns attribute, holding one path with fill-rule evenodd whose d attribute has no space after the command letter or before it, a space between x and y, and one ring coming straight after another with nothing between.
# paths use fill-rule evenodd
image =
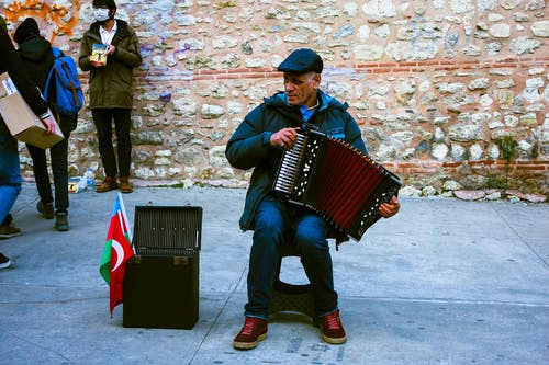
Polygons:
<instances>
[{"instance_id":1,"label":"dark blue jacket worn by the seated accordion player","mask_svg":"<svg viewBox=\"0 0 549 365\"><path fill-rule=\"evenodd\" d=\"M360 129L347 112L347 103L318 90L318 110L315 126L323 133L345 139L349 145L367 153ZM225 156L236 169L254 169L246 193L240 228L253 230L259 202L272 190L282 149L270 146L273 133L285 127L301 127L303 119L299 106L288 105L285 95L279 92L246 115L227 142Z\"/></svg>"}]
</instances>

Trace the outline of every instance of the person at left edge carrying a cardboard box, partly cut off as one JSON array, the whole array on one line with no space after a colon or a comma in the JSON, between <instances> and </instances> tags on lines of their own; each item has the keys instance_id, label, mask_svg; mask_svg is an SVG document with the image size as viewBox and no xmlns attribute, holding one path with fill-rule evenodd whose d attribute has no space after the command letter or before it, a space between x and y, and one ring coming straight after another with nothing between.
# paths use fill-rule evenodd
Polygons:
<instances>
[{"instance_id":1,"label":"person at left edge carrying a cardboard box, partly cut off","mask_svg":"<svg viewBox=\"0 0 549 365\"><path fill-rule=\"evenodd\" d=\"M19 92L46 126L46 133L55 133L56 122L38 89L21 67L21 59L8 34L5 21L0 16L0 73L8 72ZM0 116L0 221L5 223L10 209L21 192L21 171L18 141L10 134ZM0 252L0 269L9 267L11 261Z\"/></svg>"}]
</instances>

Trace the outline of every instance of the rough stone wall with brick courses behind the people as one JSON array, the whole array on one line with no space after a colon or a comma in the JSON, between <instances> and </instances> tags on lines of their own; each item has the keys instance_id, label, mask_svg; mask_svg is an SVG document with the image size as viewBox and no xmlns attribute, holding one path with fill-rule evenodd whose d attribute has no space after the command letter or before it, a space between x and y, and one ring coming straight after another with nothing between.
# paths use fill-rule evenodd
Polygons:
<instances>
[{"instance_id":1,"label":"rough stone wall with brick courses behind the people","mask_svg":"<svg viewBox=\"0 0 549 365\"><path fill-rule=\"evenodd\" d=\"M78 57L91 1L2 1L9 25L38 19ZM147 183L245 185L225 144L282 89L294 48L325 59L322 87L350 105L371 155L408 189L548 193L549 19L544 0L132 1L133 174ZM82 75L86 84L87 76ZM74 174L101 163L91 114L70 137ZM24 153L24 152L23 152ZM31 174L30 160L23 167Z\"/></svg>"}]
</instances>

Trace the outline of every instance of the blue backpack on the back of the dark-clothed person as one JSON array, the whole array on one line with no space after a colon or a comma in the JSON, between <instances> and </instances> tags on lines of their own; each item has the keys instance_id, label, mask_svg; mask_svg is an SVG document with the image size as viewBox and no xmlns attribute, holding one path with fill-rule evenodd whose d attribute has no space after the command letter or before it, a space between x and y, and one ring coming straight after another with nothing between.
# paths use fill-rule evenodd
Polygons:
<instances>
[{"instance_id":1,"label":"blue backpack on the back of the dark-clothed person","mask_svg":"<svg viewBox=\"0 0 549 365\"><path fill-rule=\"evenodd\" d=\"M76 62L71 57L64 56L59 48L52 47L55 61L47 76L44 88L44 99L47 99L49 81L55 82L55 104L60 115L77 114L83 106L83 93L76 68Z\"/></svg>"}]
</instances>

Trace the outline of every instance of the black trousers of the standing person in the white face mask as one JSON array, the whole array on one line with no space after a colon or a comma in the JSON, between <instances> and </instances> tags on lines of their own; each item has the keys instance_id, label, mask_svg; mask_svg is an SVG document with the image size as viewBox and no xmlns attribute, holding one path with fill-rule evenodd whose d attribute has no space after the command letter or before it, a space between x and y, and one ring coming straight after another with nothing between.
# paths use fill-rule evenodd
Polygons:
<instances>
[{"instance_id":1,"label":"black trousers of the standing person in the white face mask","mask_svg":"<svg viewBox=\"0 0 549 365\"><path fill-rule=\"evenodd\" d=\"M93 123L98 132L99 155L103 162L105 176L116 178L130 176L130 163L132 157L132 141L130 139L130 127L132 110L130 109L92 109ZM119 163L114 153L114 144L112 140L112 122L114 121L114 130L116 133L116 148Z\"/></svg>"}]
</instances>

